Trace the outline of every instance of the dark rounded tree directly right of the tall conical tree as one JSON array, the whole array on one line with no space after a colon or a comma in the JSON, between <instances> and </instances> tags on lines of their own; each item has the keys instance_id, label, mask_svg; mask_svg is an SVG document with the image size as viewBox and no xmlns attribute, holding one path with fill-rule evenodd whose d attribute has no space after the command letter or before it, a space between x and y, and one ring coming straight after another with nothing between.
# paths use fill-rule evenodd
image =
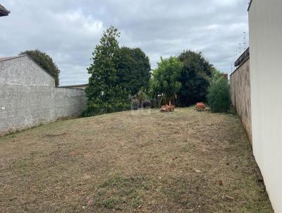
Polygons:
<instances>
[{"instance_id":1,"label":"dark rounded tree directly right of the tall conical tree","mask_svg":"<svg viewBox=\"0 0 282 213\"><path fill-rule=\"evenodd\" d=\"M118 84L135 95L142 88L148 90L151 78L149 58L140 48L121 47L118 51Z\"/></svg>"}]
</instances>

